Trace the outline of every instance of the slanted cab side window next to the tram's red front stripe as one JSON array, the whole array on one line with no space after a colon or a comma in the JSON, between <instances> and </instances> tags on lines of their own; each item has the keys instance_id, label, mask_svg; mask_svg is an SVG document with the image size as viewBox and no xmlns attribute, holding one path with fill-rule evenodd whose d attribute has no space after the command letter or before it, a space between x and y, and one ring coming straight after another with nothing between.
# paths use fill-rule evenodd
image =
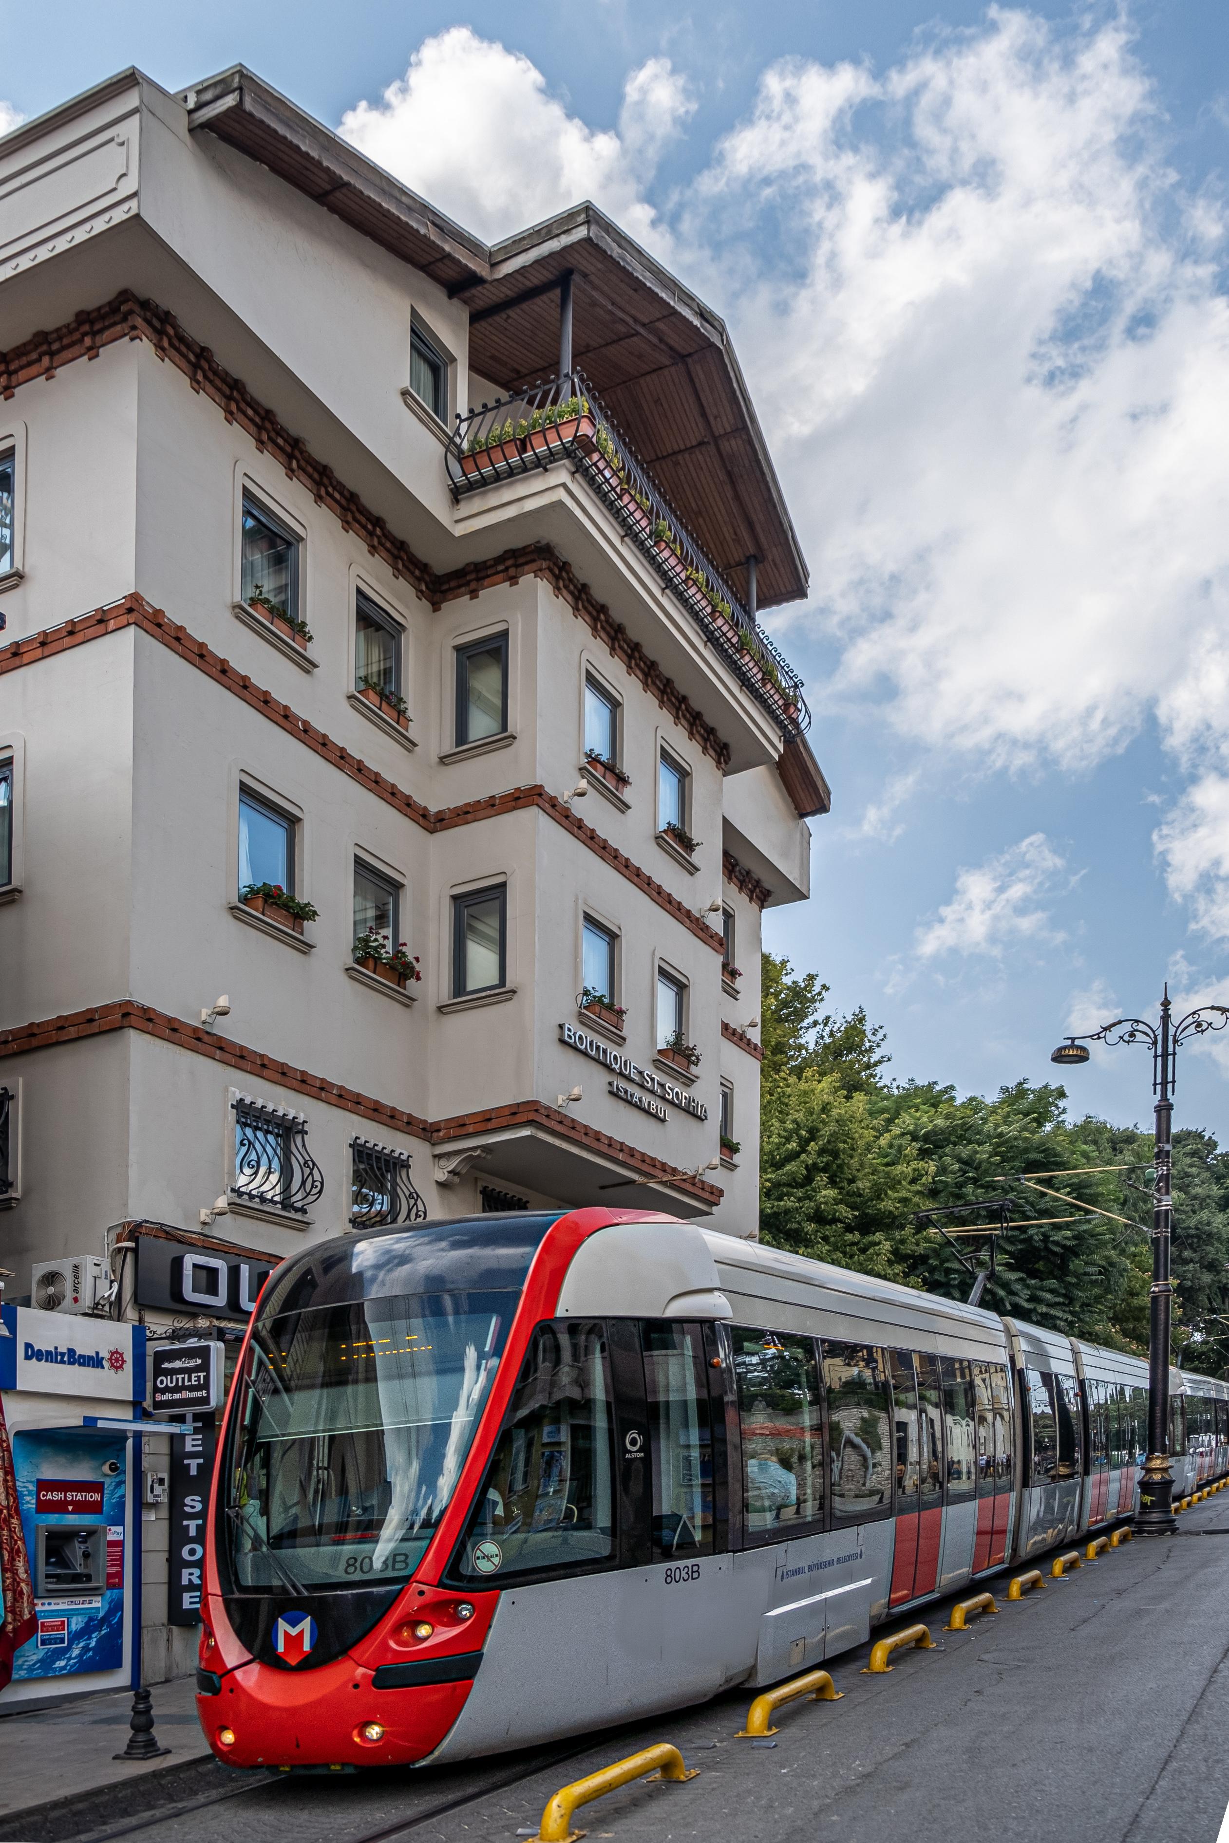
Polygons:
<instances>
[{"instance_id":1,"label":"slanted cab side window next to the tram's red front stripe","mask_svg":"<svg viewBox=\"0 0 1229 1843\"><path fill-rule=\"evenodd\" d=\"M577 1574L615 1548L604 1327L538 1325L459 1550L466 1581Z\"/></svg>"}]
</instances>

